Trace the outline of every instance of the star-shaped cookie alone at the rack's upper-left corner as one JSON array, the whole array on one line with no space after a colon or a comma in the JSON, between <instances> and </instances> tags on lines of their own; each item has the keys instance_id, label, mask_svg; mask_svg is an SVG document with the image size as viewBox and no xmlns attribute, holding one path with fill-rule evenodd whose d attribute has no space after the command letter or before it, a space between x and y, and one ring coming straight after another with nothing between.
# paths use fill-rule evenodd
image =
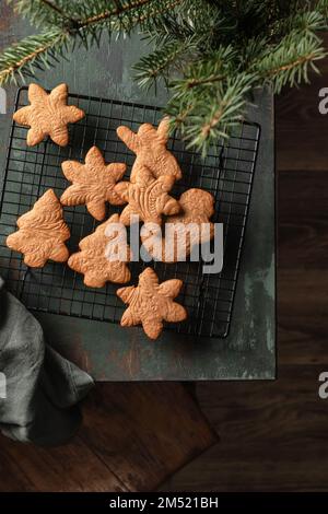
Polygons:
<instances>
[{"instance_id":1,"label":"star-shaped cookie alone at the rack's upper-left corner","mask_svg":"<svg viewBox=\"0 0 328 514\"><path fill-rule=\"evenodd\" d=\"M39 143L46 136L50 136L59 147L68 144L68 124L79 121L85 114L74 105L67 105L67 84L58 85L49 94L40 85L30 85L31 105L22 107L13 115L17 124L31 127L27 133L28 147Z\"/></svg>"}]
</instances>

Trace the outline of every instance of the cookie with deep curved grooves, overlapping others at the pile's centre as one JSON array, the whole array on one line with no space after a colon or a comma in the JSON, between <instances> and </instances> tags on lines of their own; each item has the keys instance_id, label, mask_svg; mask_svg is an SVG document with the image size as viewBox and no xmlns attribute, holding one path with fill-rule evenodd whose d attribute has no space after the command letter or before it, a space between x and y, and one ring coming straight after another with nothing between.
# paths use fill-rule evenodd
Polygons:
<instances>
[{"instance_id":1,"label":"cookie with deep curved grooves, overlapping others at the pile's centre","mask_svg":"<svg viewBox=\"0 0 328 514\"><path fill-rule=\"evenodd\" d=\"M176 214L180 206L168 195L174 177L162 175L155 178L149 168L142 167L136 183L120 182L115 191L128 202L120 214L120 221L129 225L131 217L139 217L144 222L161 223L162 214Z\"/></svg>"}]
</instances>

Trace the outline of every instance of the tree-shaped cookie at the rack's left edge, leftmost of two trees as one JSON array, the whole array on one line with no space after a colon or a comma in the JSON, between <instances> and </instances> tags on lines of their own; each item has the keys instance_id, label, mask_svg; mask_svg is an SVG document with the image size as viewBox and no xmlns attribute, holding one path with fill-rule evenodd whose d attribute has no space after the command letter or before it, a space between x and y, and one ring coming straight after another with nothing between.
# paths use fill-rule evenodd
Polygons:
<instances>
[{"instance_id":1,"label":"tree-shaped cookie at the rack's left edge, leftmost of two trees","mask_svg":"<svg viewBox=\"0 0 328 514\"><path fill-rule=\"evenodd\" d=\"M70 231L52 189L48 189L16 223L19 231L10 234L5 243L9 248L24 254L26 266L40 268L48 259L57 262L68 259L65 241L70 237Z\"/></svg>"}]
</instances>

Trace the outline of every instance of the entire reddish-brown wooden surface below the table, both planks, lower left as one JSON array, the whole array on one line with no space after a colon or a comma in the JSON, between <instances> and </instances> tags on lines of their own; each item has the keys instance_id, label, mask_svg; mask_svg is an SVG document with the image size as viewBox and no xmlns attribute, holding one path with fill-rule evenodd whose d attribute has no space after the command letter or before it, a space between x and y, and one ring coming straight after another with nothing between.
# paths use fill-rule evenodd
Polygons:
<instances>
[{"instance_id":1,"label":"entire reddish-brown wooden surface below the table, both planks, lower left","mask_svg":"<svg viewBox=\"0 0 328 514\"><path fill-rule=\"evenodd\" d=\"M74 440L0 436L0 491L150 491L218 442L180 384L97 384Z\"/></svg>"}]
</instances>

